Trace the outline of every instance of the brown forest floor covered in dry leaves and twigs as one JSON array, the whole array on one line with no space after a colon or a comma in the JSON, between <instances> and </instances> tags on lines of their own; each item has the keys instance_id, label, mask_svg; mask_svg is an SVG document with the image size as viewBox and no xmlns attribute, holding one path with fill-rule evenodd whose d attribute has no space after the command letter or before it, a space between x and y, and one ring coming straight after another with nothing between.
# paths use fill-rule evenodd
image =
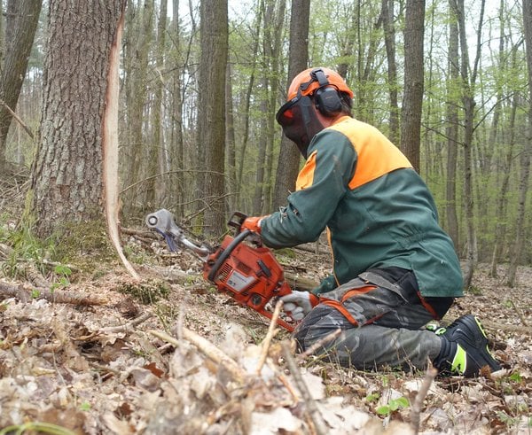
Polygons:
<instances>
[{"instance_id":1,"label":"brown forest floor covered in dry leaves and twigs","mask_svg":"<svg viewBox=\"0 0 532 435\"><path fill-rule=\"evenodd\" d=\"M532 433L532 268L509 288L505 265L497 279L481 265L442 321L479 315L504 370L431 383L294 355L285 330L270 337L200 260L143 229L122 234L137 282L113 261L78 269L13 251L12 223L0 221L2 435ZM278 260L318 281L325 252Z\"/></svg>"}]
</instances>

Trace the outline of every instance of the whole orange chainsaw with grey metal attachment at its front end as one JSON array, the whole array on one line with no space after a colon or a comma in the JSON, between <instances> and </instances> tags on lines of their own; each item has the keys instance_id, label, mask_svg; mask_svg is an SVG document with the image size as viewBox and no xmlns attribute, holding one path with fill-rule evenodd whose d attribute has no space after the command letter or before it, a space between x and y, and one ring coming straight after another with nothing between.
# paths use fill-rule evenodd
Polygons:
<instances>
[{"instance_id":1,"label":"whole orange chainsaw with grey metal attachment at its front end","mask_svg":"<svg viewBox=\"0 0 532 435\"><path fill-rule=\"evenodd\" d=\"M284 272L273 253L256 242L257 235L249 229L242 230L246 214L235 212L227 224L235 229L234 237L226 235L222 245L211 249L197 245L184 236L174 221L174 215L166 209L148 214L145 223L158 232L168 245L170 252L184 247L195 252L203 261L203 277L215 284L218 291L228 294L239 305L253 308L269 319L272 313L267 309L271 299L292 292L286 283ZM244 241L254 240L256 246ZM278 318L278 325L292 331L293 325Z\"/></svg>"}]
</instances>

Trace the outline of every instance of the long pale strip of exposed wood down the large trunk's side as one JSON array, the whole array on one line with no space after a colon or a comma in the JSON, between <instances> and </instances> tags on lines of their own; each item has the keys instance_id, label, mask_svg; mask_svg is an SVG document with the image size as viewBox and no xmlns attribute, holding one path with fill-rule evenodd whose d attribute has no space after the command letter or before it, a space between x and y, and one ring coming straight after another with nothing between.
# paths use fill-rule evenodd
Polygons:
<instances>
[{"instance_id":1,"label":"long pale strip of exposed wood down the large trunk's side","mask_svg":"<svg viewBox=\"0 0 532 435\"><path fill-rule=\"evenodd\" d=\"M125 2L124 2L125 6ZM113 46L109 55L109 71L107 72L106 111L103 117L103 182L104 200L106 204L107 231L114 249L129 275L140 280L137 271L124 255L118 228L118 97L119 97L119 65L121 35L124 27L124 9L116 29Z\"/></svg>"}]
</instances>

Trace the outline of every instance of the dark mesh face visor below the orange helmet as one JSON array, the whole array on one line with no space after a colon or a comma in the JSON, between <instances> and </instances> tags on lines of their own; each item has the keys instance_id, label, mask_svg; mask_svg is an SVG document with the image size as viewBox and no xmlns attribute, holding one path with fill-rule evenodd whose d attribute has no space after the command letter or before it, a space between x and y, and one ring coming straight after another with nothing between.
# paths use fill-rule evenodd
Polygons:
<instances>
[{"instance_id":1,"label":"dark mesh face visor below the orange helmet","mask_svg":"<svg viewBox=\"0 0 532 435\"><path fill-rule=\"evenodd\" d=\"M323 128L317 121L312 105L312 100L307 96L293 97L281 106L275 117L285 136L297 145L305 159L312 137ZM316 122L317 126L314 125Z\"/></svg>"}]
</instances>

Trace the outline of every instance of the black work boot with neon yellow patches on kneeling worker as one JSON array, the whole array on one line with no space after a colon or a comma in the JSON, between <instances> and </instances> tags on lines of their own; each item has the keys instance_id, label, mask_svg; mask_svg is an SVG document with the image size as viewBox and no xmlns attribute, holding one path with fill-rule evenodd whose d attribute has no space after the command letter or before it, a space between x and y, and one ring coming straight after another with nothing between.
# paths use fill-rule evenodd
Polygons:
<instances>
[{"instance_id":1,"label":"black work boot with neon yellow patches on kneeling worker","mask_svg":"<svg viewBox=\"0 0 532 435\"><path fill-rule=\"evenodd\" d=\"M501 369L489 353L488 338L474 315L464 315L434 333L442 338L442 349L434 360L440 373L474 377L486 366L492 372Z\"/></svg>"}]
</instances>

